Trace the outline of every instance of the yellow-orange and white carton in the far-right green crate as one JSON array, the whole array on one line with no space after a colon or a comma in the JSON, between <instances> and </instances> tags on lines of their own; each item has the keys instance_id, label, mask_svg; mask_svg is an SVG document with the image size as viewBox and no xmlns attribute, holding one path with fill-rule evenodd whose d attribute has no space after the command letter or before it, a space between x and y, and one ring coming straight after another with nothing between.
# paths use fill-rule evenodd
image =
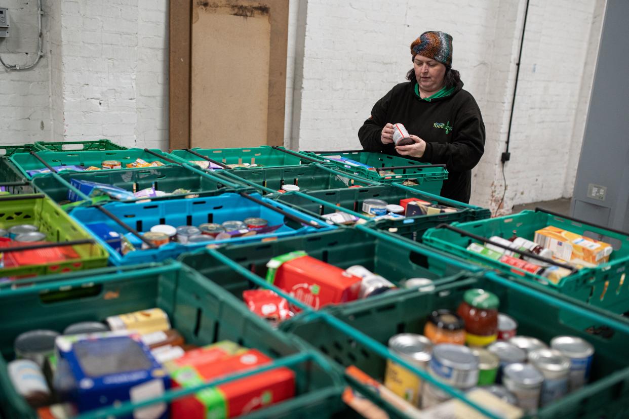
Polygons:
<instances>
[{"instance_id":1,"label":"yellow-orange and white carton in the far-right green crate","mask_svg":"<svg viewBox=\"0 0 629 419\"><path fill-rule=\"evenodd\" d=\"M542 248L552 250L555 258L564 261L580 259L587 263L606 263L613 250L611 244L553 226L536 231L534 241Z\"/></svg>"}]
</instances>

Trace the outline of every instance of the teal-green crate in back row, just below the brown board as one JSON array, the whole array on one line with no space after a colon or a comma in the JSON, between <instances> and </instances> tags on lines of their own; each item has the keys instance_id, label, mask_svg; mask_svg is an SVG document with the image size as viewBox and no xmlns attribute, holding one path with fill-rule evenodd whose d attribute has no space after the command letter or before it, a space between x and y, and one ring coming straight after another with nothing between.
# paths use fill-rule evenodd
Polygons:
<instances>
[{"instance_id":1,"label":"teal-green crate in back row, just below the brown board","mask_svg":"<svg viewBox=\"0 0 629 419\"><path fill-rule=\"evenodd\" d=\"M218 161L223 165L261 165L264 168L298 166L316 161L309 156L303 156L296 151L286 150L284 147L259 146L249 148L192 148L192 151ZM203 158L190 153L187 150L173 150L170 155L175 156L182 163L199 161ZM246 168L236 168L242 170Z\"/></svg>"}]
</instances>

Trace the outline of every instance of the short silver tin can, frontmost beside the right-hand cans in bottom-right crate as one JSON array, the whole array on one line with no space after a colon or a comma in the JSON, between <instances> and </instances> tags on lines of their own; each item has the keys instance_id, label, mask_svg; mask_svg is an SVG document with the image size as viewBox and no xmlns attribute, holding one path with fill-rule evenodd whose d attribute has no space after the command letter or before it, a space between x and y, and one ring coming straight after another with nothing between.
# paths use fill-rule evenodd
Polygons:
<instances>
[{"instance_id":1,"label":"short silver tin can, frontmost beside the right-hand cans in bottom-right crate","mask_svg":"<svg viewBox=\"0 0 629 419\"><path fill-rule=\"evenodd\" d=\"M504 368L504 387L518 400L524 410L535 410L540 404L544 376L530 364L516 362Z\"/></svg>"}]
</instances>

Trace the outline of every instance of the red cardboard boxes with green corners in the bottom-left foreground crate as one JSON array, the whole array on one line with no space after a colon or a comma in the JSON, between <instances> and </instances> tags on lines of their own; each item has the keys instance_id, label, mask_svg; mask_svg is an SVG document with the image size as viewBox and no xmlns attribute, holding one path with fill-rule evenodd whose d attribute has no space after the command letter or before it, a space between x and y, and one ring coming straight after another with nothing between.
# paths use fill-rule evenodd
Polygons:
<instances>
[{"instance_id":1,"label":"red cardboard boxes with green corners in the bottom-left foreground crate","mask_svg":"<svg viewBox=\"0 0 629 419\"><path fill-rule=\"evenodd\" d=\"M219 361L184 366L171 374L173 388L196 386L244 369L268 364L271 359L255 349ZM230 383L199 391L194 396L174 400L173 418L233 418L279 403L295 394L295 374L279 367Z\"/></svg>"}]
</instances>

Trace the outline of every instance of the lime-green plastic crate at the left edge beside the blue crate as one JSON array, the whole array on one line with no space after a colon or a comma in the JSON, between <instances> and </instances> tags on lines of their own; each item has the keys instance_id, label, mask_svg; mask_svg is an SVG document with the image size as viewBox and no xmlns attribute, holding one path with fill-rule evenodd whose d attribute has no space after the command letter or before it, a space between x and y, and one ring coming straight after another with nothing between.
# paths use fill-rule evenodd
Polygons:
<instances>
[{"instance_id":1,"label":"lime-green plastic crate at the left edge beside the blue crate","mask_svg":"<svg viewBox=\"0 0 629 419\"><path fill-rule=\"evenodd\" d=\"M70 218L55 202L44 195L8 195L0 197L0 228L34 224L47 235L48 241L66 242L92 239L87 231ZM1 277L50 275L105 266L109 254L99 244L72 246L78 259L0 269Z\"/></svg>"}]
</instances>

